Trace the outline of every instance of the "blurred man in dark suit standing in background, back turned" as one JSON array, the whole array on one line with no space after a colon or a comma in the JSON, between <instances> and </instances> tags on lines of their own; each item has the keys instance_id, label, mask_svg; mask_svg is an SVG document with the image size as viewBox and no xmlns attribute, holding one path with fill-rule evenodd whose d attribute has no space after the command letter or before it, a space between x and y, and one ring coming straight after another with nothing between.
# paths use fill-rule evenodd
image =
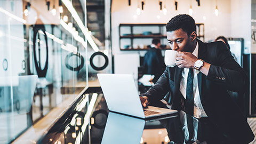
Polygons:
<instances>
[{"instance_id":1,"label":"blurred man in dark suit standing in background, back turned","mask_svg":"<svg viewBox=\"0 0 256 144\"><path fill-rule=\"evenodd\" d=\"M154 38L150 45L150 50L145 54L143 61L143 74L154 75L154 83L163 74L165 69L160 46L160 39Z\"/></svg>"}]
</instances>

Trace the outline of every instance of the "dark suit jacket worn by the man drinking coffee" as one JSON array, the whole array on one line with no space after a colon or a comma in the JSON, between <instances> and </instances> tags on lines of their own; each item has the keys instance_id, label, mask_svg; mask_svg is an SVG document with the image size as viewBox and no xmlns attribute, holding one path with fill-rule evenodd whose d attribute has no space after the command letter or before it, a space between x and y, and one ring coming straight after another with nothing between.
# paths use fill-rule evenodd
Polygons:
<instances>
[{"instance_id":1,"label":"dark suit jacket worn by the man drinking coffee","mask_svg":"<svg viewBox=\"0 0 256 144\"><path fill-rule=\"evenodd\" d=\"M249 86L249 78L234 60L222 42L203 43L198 41L198 58L211 64L208 76L198 74L198 87L202 106L209 120L228 138L238 143L249 143L254 139L249 124L241 109L230 98L227 90L244 92ZM167 102L173 109L183 109L180 94L180 79L183 68L166 67L157 83L145 94L150 103L163 99L169 92Z\"/></svg>"}]
</instances>

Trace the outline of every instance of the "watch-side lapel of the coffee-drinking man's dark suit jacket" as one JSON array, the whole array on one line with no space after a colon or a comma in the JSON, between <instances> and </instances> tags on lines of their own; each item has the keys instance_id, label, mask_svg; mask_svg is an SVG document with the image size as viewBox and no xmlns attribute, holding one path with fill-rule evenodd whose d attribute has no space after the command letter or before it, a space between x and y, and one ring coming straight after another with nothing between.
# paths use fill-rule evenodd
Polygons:
<instances>
[{"instance_id":1,"label":"watch-side lapel of the coffee-drinking man's dark suit jacket","mask_svg":"<svg viewBox=\"0 0 256 144\"><path fill-rule=\"evenodd\" d=\"M199 39L197 39L197 42L198 42L198 59L206 60L206 56L207 56L206 55L206 47L205 47L206 45ZM204 80L205 80L204 74L199 73L197 75L197 81L198 81L198 89L199 89L201 101L202 101L202 83L205 82Z\"/></svg>"}]
</instances>

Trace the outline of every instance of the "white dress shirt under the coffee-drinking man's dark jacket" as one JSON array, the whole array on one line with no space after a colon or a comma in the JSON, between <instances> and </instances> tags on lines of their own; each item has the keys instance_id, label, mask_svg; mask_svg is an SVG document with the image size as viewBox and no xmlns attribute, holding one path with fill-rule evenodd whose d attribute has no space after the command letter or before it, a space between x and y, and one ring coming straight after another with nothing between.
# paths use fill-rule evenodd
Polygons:
<instances>
[{"instance_id":1,"label":"white dress shirt under the coffee-drinking man's dark jacket","mask_svg":"<svg viewBox=\"0 0 256 144\"><path fill-rule=\"evenodd\" d=\"M193 53L196 57L198 57L198 42L196 42L196 49L193 51ZM186 91L187 91L187 79L188 79L188 68L184 68L184 70L181 73L181 80L180 80L180 92L183 95L183 97L186 99ZM193 79L193 91L194 91L194 117L201 118L201 117L207 117L204 108L201 103L199 89L198 89L198 79L196 70L193 69L194 72L194 79Z\"/></svg>"}]
</instances>

